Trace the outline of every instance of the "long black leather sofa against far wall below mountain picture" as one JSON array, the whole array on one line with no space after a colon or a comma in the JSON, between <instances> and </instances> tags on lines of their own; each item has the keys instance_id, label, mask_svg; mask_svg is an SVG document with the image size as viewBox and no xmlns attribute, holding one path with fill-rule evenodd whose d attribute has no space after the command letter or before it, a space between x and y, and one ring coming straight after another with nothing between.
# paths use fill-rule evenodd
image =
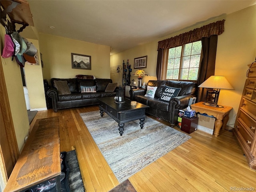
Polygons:
<instances>
[{"instance_id":1,"label":"long black leather sofa against far wall below mountain picture","mask_svg":"<svg viewBox=\"0 0 256 192\"><path fill-rule=\"evenodd\" d=\"M67 81L71 94L59 95L54 81ZM77 78L52 78L52 88L47 91L47 95L52 98L52 108L54 112L59 109L82 107L99 104L97 98L116 96L116 92L105 92L111 79L77 79ZM81 93L80 86L96 86L96 92Z\"/></svg>"}]
</instances>

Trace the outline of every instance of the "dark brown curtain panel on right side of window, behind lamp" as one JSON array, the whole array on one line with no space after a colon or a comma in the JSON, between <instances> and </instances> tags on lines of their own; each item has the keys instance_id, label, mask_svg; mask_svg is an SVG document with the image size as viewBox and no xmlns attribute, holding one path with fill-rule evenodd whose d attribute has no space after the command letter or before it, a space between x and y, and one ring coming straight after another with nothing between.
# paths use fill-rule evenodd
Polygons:
<instances>
[{"instance_id":1,"label":"dark brown curtain panel on right side of window, behind lamp","mask_svg":"<svg viewBox=\"0 0 256 192\"><path fill-rule=\"evenodd\" d=\"M198 85L214 75L218 35L202 38L202 56L198 74ZM206 88L198 87L197 102L204 101Z\"/></svg>"}]
</instances>

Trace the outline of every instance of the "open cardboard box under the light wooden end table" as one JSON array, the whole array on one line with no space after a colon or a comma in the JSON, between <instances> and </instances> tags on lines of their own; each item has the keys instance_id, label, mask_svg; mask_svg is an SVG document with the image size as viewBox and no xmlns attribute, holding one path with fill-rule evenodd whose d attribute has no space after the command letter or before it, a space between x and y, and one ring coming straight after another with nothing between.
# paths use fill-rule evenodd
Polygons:
<instances>
[{"instance_id":1,"label":"open cardboard box under the light wooden end table","mask_svg":"<svg viewBox=\"0 0 256 192\"><path fill-rule=\"evenodd\" d=\"M213 135L215 118L201 115L201 114L197 114L197 116L198 116L197 129Z\"/></svg>"}]
</instances>

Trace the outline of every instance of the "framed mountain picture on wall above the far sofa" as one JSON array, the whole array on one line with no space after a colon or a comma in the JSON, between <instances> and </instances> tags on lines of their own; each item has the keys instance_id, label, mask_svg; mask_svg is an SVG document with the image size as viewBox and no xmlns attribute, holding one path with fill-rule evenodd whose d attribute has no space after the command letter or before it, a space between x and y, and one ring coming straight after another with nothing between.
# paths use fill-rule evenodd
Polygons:
<instances>
[{"instance_id":1,"label":"framed mountain picture on wall above the far sofa","mask_svg":"<svg viewBox=\"0 0 256 192\"><path fill-rule=\"evenodd\" d=\"M73 69L87 69L92 70L91 56L71 53L72 68Z\"/></svg>"}]
</instances>

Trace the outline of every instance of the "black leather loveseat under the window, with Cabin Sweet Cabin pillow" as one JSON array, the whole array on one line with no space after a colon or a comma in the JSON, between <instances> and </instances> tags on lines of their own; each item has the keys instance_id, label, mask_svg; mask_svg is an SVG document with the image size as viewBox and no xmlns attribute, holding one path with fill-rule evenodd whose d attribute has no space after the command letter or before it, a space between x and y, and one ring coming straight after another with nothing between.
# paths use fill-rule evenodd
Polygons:
<instances>
[{"instance_id":1,"label":"black leather loveseat under the window, with Cabin Sweet Cabin pillow","mask_svg":"<svg viewBox=\"0 0 256 192\"><path fill-rule=\"evenodd\" d=\"M157 87L154 98L144 96L147 86ZM131 89L130 99L150 106L146 109L146 113L170 122L171 127L174 127L177 123L179 110L188 107L190 98L196 97L196 84L194 82L150 80L147 86L143 89ZM181 90L178 96L172 98L169 102L165 102L159 100L164 91L164 86L181 88Z\"/></svg>"}]
</instances>

